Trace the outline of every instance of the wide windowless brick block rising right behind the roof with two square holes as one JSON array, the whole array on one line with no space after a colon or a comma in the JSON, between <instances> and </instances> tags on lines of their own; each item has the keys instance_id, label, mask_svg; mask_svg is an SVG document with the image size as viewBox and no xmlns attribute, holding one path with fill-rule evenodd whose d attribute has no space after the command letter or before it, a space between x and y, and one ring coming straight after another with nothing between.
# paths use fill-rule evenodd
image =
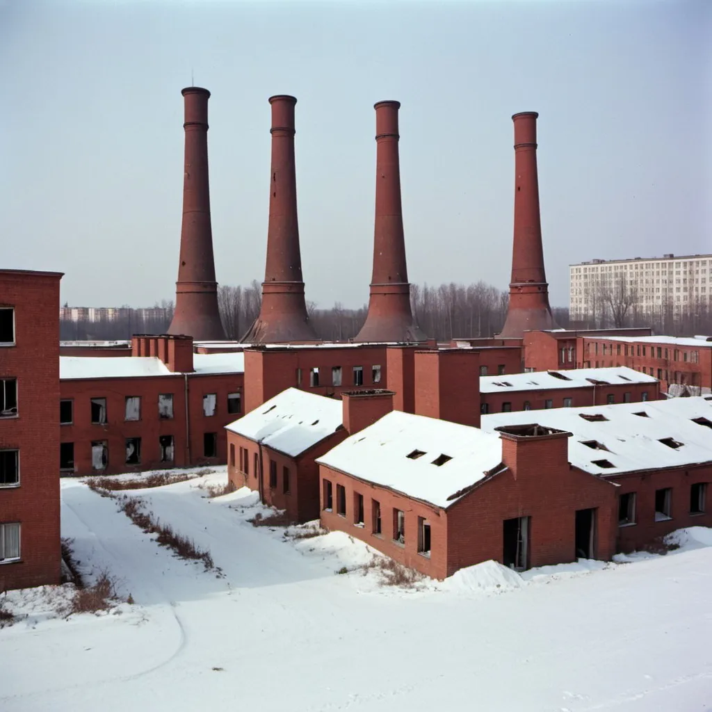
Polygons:
<instances>
[{"instance_id":1,"label":"wide windowless brick block rising right behind the roof with two square holes","mask_svg":"<svg viewBox=\"0 0 712 712\"><path fill-rule=\"evenodd\" d=\"M415 352L415 413L480 426L480 352Z\"/></svg>"}]
</instances>

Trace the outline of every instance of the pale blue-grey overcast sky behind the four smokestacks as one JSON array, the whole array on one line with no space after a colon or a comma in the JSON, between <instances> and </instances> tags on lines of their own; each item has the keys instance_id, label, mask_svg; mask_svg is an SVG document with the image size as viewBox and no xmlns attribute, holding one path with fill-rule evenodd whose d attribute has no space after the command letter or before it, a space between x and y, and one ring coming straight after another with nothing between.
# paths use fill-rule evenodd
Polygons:
<instances>
[{"instance_id":1,"label":"pale blue-grey overcast sky behind the four smokestacks","mask_svg":"<svg viewBox=\"0 0 712 712\"><path fill-rule=\"evenodd\" d=\"M570 263L712 252L710 37L706 0L0 0L0 267L65 272L70 305L172 298L194 81L220 283L263 279L267 99L288 93L307 298L367 301L373 104L396 99L410 281L506 288L511 115L534 110L567 305Z\"/></svg>"}]
</instances>

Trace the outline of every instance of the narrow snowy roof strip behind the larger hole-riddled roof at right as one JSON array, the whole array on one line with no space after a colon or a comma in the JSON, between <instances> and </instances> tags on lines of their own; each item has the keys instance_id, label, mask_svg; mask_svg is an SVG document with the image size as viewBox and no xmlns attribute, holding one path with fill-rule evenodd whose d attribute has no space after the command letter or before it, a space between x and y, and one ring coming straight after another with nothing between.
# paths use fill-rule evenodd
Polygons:
<instances>
[{"instance_id":1,"label":"narrow snowy roof strip behind the larger hole-riddled roof at right","mask_svg":"<svg viewBox=\"0 0 712 712\"><path fill-rule=\"evenodd\" d=\"M577 368L570 371L540 371L502 376L481 376L481 393L537 391L553 388L590 388L594 385L656 383L657 379L626 366Z\"/></svg>"}]
</instances>

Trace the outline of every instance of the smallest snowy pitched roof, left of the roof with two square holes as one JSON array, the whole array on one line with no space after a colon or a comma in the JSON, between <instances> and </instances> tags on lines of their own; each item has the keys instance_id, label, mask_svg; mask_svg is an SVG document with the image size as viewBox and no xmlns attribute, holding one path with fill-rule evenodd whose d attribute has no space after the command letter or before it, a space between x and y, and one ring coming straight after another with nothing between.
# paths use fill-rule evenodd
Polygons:
<instances>
[{"instance_id":1,"label":"smallest snowy pitched roof, left of the roof with two square holes","mask_svg":"<svg viewBox=\"0 0 712 712\"><path fill-rule=\"evenodd\" d=\"M296 457L337 431L342 402L288 388L226 429Z\"/></svg>"}]
</instances>

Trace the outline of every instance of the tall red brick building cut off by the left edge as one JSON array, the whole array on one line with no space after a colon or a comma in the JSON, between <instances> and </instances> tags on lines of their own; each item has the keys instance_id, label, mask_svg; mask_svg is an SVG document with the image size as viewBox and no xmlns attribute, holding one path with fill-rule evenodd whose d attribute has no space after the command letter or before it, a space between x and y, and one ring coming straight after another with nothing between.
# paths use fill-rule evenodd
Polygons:
<instances>
[{"instance_id":1,"label":"tall red brick building cut off by the left edge","mask_svg":"<svg viewBox=\"0 0 712 712\"><path fill-rule=\"evenodd\" d=\"M0 591L60 581L61 277L0 271Z\"/></svg>"}]
</instances>

